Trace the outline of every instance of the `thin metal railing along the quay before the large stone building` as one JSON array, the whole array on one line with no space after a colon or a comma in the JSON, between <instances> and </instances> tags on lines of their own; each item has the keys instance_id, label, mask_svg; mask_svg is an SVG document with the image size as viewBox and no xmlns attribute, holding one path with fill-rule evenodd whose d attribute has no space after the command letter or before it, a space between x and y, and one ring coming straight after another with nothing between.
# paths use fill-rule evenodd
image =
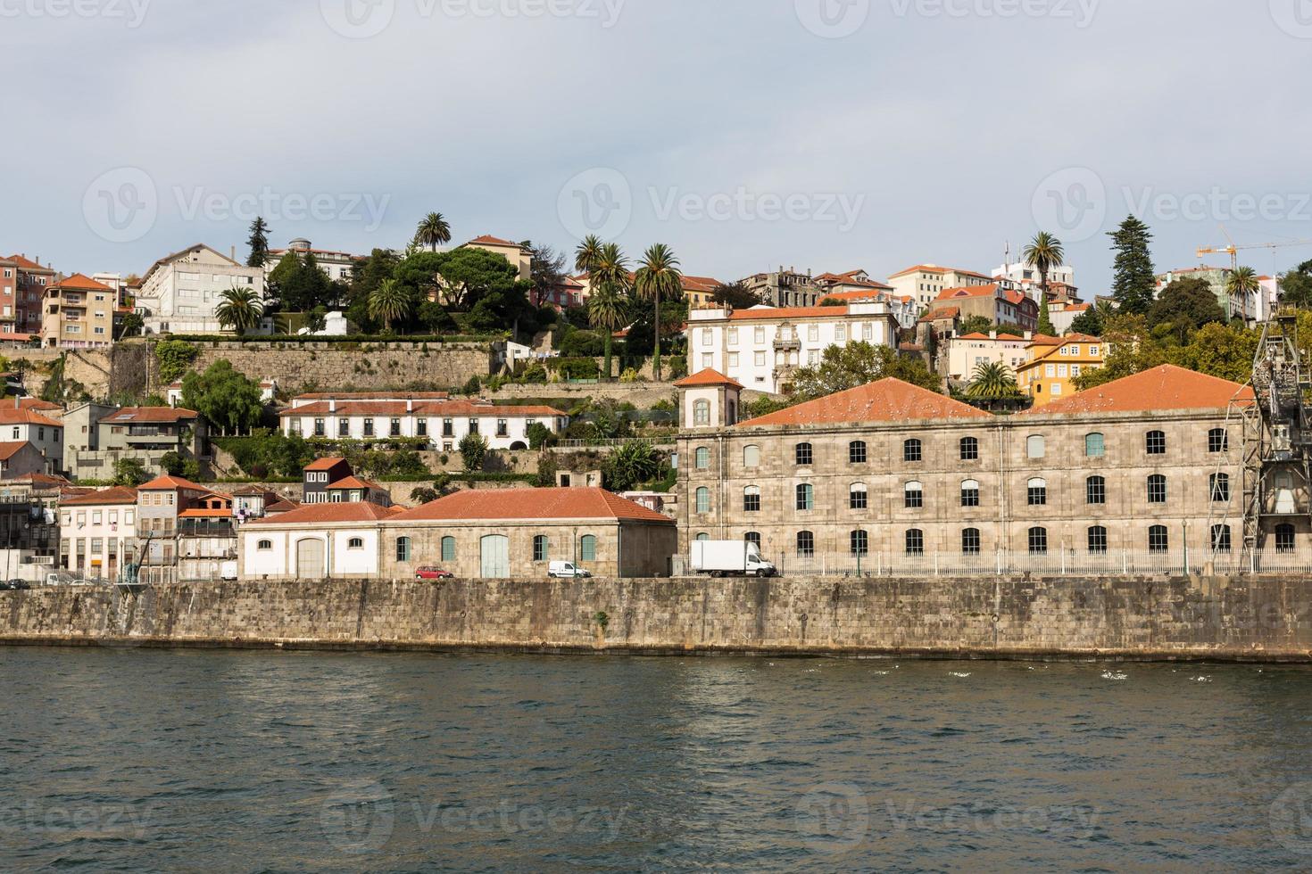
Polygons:
<instances>
[{"instance_id":1,"label":"thin metal railing along the quay before the large stone building","mask_svg":"<svg viewBox=\"0 0 1312 874\"><path fill-rule=\"evenodd\" d=\"M1267 548L1250 556L1240 550L1089 553L1052 549L1047 553L993 552L963 553L812 553L810 556L765 556L781 575L787 577L997 577L1034 574L1038 577L1132 577L1178 574L1312 574L1312 549ZM693 575L690 556L673 556L674 577Z\"/></svg>"}]
</instances>

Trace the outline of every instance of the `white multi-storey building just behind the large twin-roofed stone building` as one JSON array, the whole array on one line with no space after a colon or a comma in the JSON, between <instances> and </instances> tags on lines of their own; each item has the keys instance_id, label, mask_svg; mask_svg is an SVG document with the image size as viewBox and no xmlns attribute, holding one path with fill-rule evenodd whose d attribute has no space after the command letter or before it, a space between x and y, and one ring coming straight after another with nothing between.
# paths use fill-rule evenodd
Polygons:
<instances>
[{"instance_id":1,"label":"white multi-storey building just behind the large twin-roofed stone building","mask_svg":"<svg viewBox=\"0 0 1312 874\"><path fill-rule=\"evenodd\" d=\"M694 309L689 313L687 372L714 370L744 387L778 394L824 350L865 341L897 347L897 318L887 304L775 309Z\"/></svg>"}]
</instances>

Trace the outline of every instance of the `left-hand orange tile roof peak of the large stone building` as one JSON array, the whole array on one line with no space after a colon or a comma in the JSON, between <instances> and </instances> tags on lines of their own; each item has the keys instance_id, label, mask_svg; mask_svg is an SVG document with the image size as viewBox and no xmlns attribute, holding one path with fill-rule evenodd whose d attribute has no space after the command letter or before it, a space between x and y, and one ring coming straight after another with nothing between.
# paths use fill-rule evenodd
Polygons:
<instances>
[{"instance_id":1,"label":"left-hand orange tile roof peak of the large stone building","mask_svg":"<svg viewBox=\"0 0 1312 874\"><path fill-rule=\"evenodd\" d=\"M883 379L846 392L829 394L787 410L779 410L737 427L779 425L849 425L862 422L905 422L908 419L977 419L992 418L968 404L904 383Z\"/></svg>"}]
</instances>

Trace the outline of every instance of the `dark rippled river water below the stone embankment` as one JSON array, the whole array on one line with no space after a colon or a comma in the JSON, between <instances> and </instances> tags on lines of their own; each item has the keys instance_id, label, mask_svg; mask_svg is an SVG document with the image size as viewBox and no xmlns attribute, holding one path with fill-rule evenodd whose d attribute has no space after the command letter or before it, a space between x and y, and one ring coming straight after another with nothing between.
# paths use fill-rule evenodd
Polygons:
<instances>
[{"instance_id":1,"label":"dark rippled river water below the stone embankment","mask_svg":"<svg viewBox=\"0 0 1312 874\"><path fill-rule=\"evenodd\" d=\"M1312 670L0 649L0 869L1312 867Z\"/></svg>"}]
</instances>

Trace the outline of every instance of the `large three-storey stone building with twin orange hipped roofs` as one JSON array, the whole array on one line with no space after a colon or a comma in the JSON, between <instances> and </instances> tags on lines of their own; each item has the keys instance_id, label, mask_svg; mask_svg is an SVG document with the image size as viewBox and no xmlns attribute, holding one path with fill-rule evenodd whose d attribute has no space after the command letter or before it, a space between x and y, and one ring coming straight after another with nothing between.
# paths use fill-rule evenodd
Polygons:
<instances>
[{"instance_id":1,"label":"large three-storey stone building with twin orange hipped roofs","mask_svg":"<svg viewBox=\"0 0 1312 874\"><path fill-rule=\"evenodd\" d=\"M1252 400L1170 366L1008 417L890 379L729 425L703 392L708 421L678 438L680 550L752 541L785 573L1219 562L1242 546L1228 410Z\"/></svg>"}]
</instances>

